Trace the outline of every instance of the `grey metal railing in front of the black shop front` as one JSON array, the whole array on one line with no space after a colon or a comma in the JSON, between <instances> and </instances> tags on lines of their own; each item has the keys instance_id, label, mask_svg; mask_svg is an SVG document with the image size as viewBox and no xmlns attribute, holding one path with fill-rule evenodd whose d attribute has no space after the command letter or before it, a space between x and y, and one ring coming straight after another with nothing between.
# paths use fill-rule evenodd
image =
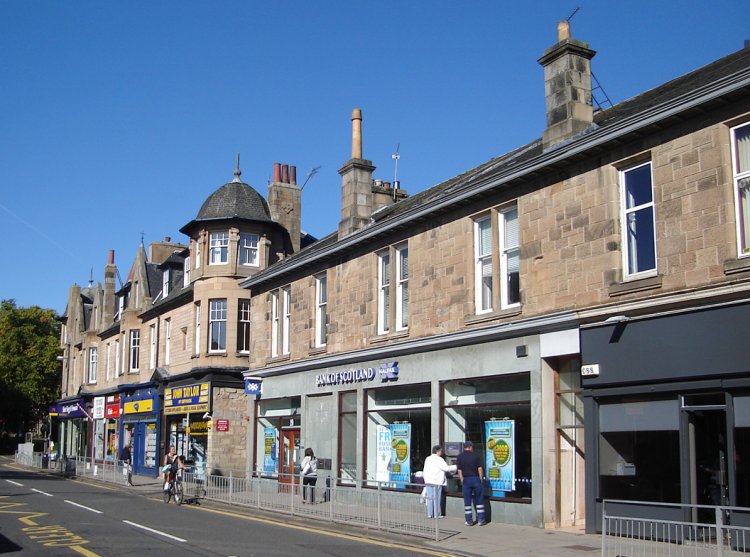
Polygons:
<instances>
[{"instance_id":1,"label":"grey metal railing in front of the black shop front","mask_svg":"<svg viewBox=\"0 0 750 557\"><path fill-rule=\"evenodd\" d=\"M648 507L648 514L661 518L643 518L644 507ZM615 500L602 503L602 557L724 557L748 552L749 508Z\"/></svg>"}]
</instances>

